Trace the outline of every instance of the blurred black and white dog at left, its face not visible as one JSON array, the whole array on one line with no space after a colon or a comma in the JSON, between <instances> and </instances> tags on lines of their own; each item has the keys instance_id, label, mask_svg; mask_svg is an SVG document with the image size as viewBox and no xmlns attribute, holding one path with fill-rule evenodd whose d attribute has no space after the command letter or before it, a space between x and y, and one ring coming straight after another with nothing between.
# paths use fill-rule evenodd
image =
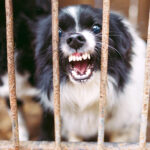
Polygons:
<instances>
[{"instance_id":1,"label":"blurred black and white dog at left, its face not visible","mask_svg":"<svg viewBox=\"0 0 150 150\"><path fill-rule=\"evenodd\" d=\"M41 3L42 2L42 3ZM38 96L38 89L35 84L35 62L33 34L31 24L39 16L50 12L48 0L15 0L13 1L14 35L15 35L15 64L16 64L16 92L18 104L29 97ZM0 98L7 100L9 105L9 88L7 74L7 53L6 53L6 18L5 0L0 1ZM19 118L20 140L28 140L29 134L23 120L21 111Z\"/></svg>"}]
</instances>

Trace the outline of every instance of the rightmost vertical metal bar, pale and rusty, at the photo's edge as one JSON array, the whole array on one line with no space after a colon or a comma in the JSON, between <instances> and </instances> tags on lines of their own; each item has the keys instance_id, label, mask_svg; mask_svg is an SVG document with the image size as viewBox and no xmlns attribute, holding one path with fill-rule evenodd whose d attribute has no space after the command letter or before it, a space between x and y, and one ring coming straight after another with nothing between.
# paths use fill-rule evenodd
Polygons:
<instances>
[{"instance_id":1,"label":"rightmost vertical metal bar, pale and rusty, at the photo's edge","mask_svg":"<svg viewBox=\"0 0 150 150\"><path fill-rule=\"evenodd\" d=\"M145 62L145 79L144 79L144 94L141 115L141 128L140 128L140 147L143 150L146 146L146 131L148 119L148 105L150 98L150 11L149 11L149 28L147 39L147 52Z\"/></svg>"}]
</instances>

